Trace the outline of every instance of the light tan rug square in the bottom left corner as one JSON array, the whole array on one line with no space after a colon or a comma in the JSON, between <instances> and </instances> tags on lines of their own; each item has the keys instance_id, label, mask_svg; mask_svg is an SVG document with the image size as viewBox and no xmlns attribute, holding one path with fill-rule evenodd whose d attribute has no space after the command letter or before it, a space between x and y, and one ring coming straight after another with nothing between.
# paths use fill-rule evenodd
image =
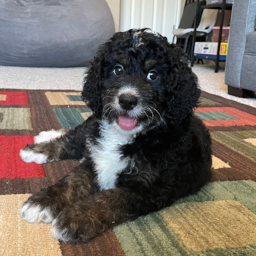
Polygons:
<instances>
[{"instance_id":1,"label":"light tan rug square in the bottom left corner","mask_svg":"<svg viewBox=\"0 0 256 256\"><path fill-rule=\"evenodd\" d=\"M0 195L0 255L61 256L59 241L50 236L50 225L30 224L18 210L29 197Z\"/></svg>"}]
</instances>

